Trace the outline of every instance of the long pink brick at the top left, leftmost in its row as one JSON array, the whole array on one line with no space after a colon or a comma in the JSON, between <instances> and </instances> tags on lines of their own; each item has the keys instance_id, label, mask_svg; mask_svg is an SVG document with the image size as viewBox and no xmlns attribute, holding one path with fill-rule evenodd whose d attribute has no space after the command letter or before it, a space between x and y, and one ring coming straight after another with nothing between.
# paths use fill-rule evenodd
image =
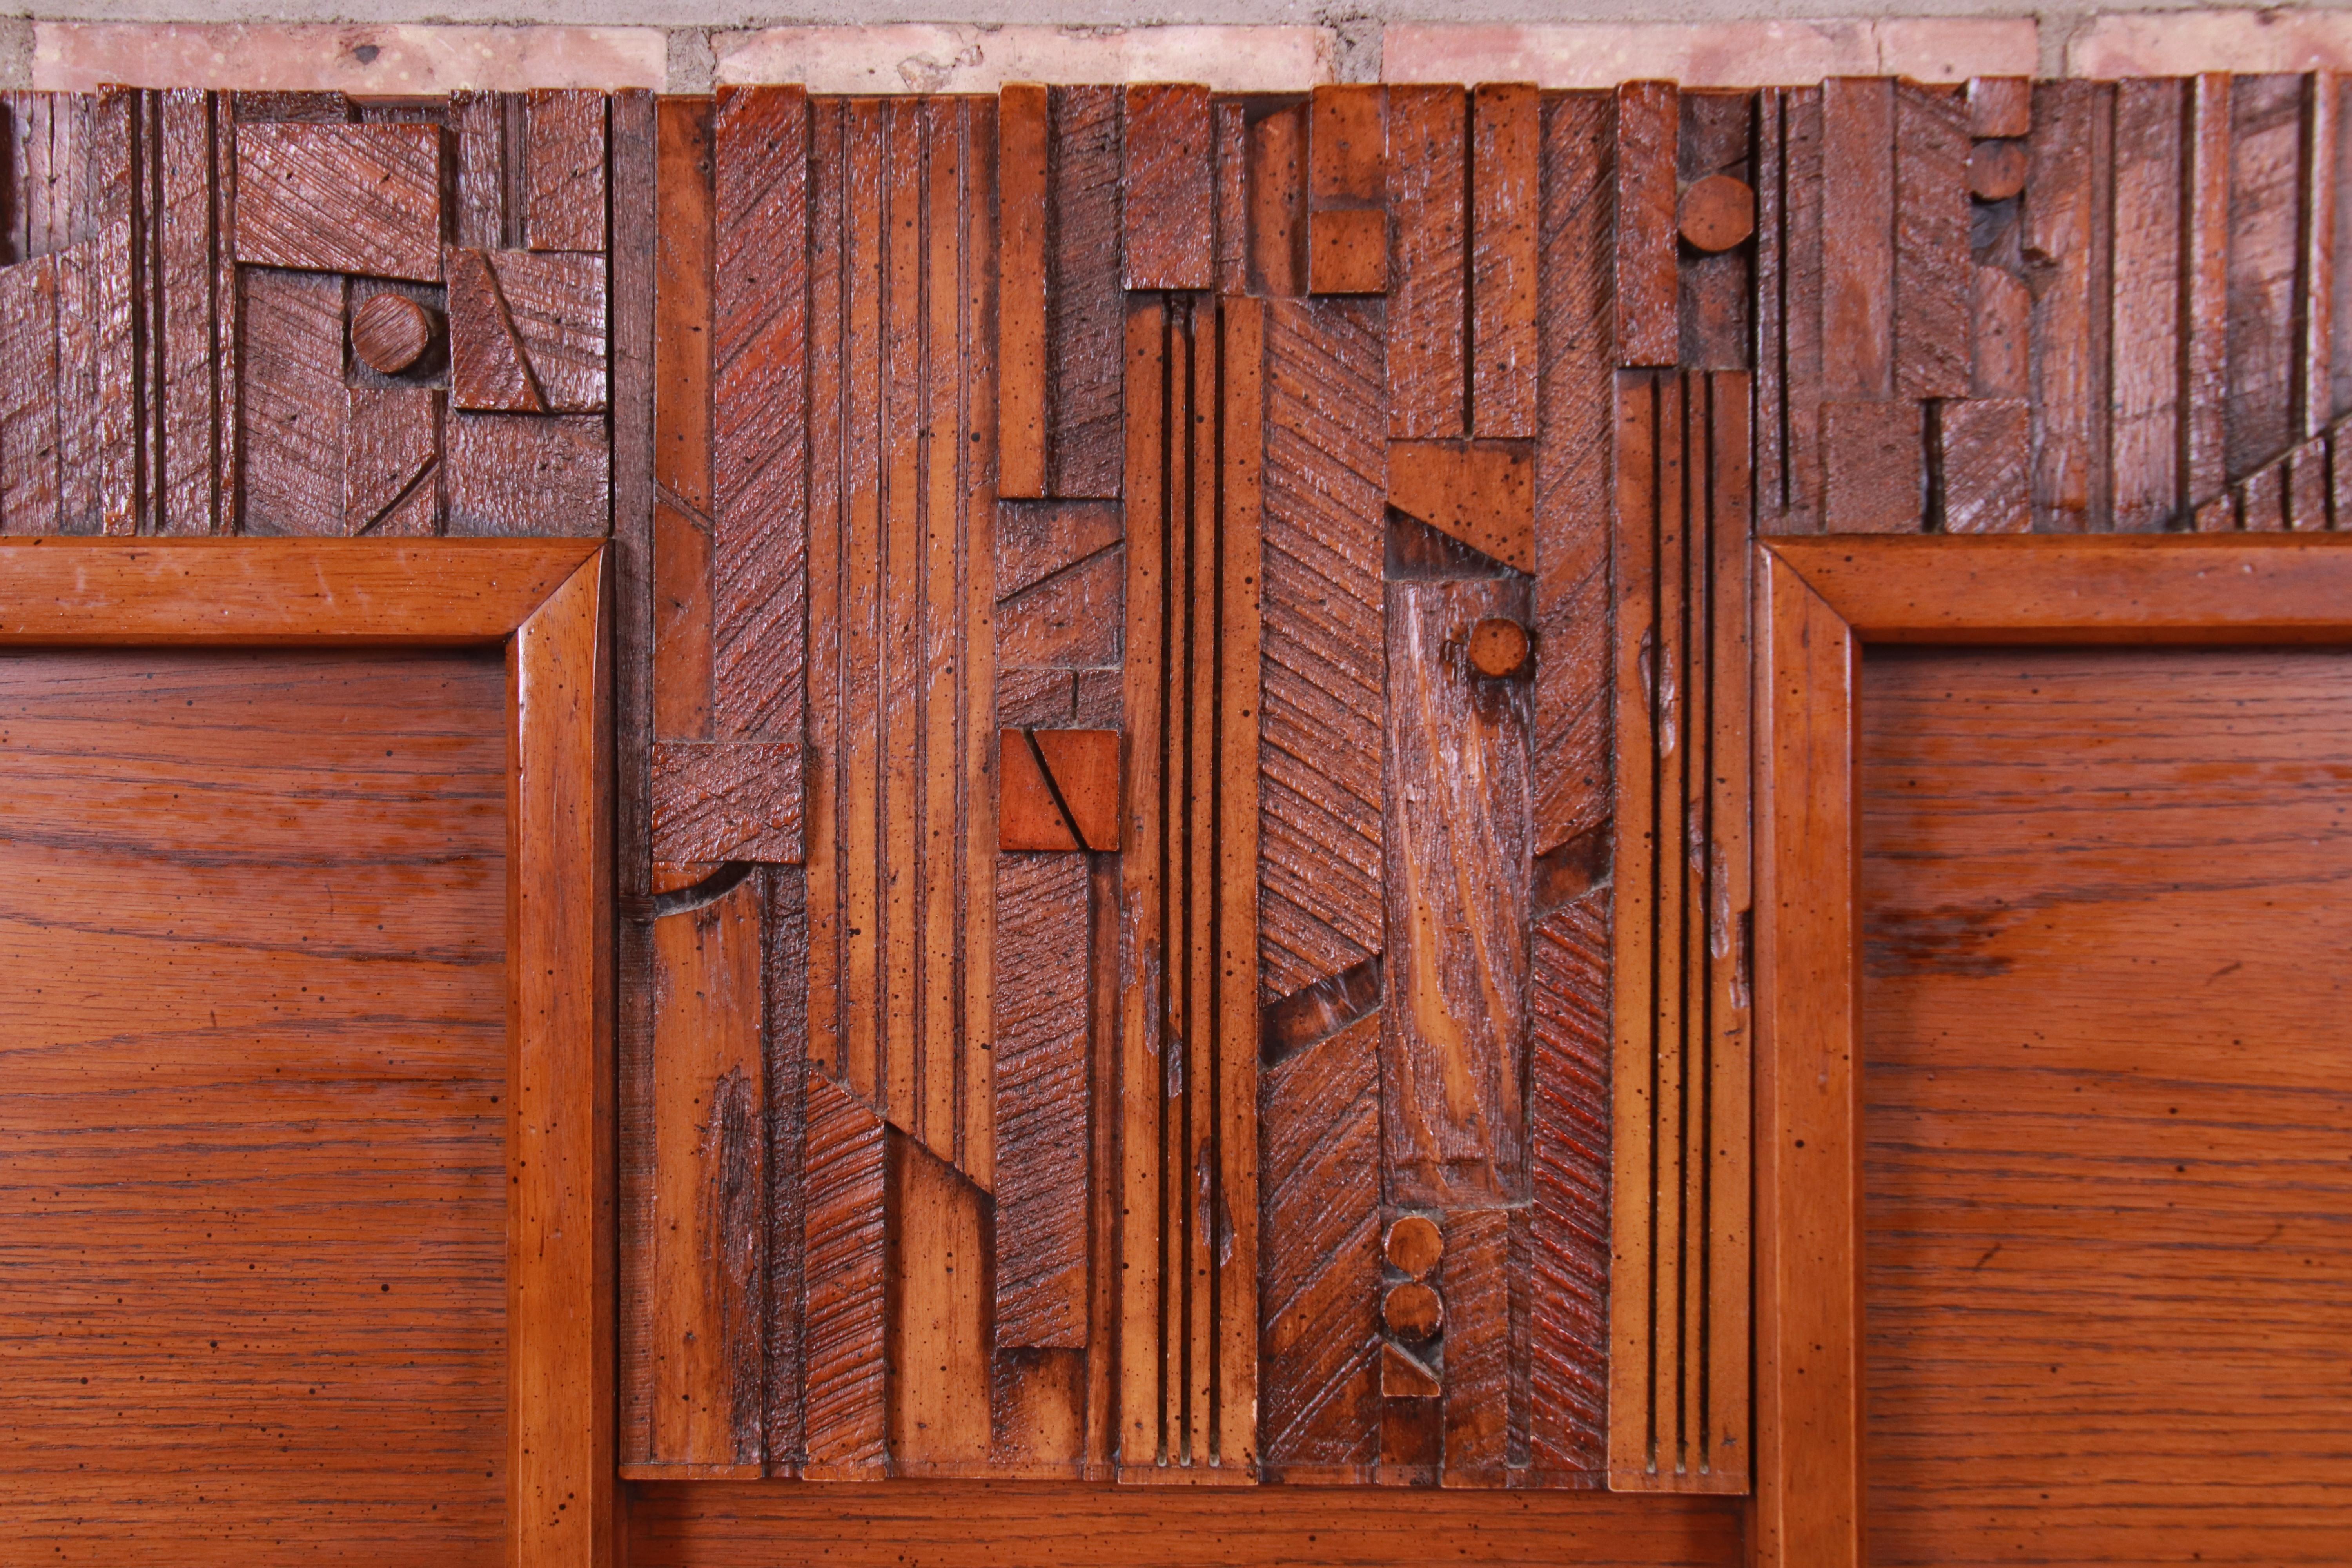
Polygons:
<instances>
[{"instance_id":1,"label":"long pink brick at the top left, leftmost in its row","mask_svg":"<svg viewBox=\"0 0 2352 1568\"><path fill-rule=\"evenodd\" d=\"M33 87L341 89L661 87L659 28L212 26L42 21Z\"/></svg>"}]
</instances>

